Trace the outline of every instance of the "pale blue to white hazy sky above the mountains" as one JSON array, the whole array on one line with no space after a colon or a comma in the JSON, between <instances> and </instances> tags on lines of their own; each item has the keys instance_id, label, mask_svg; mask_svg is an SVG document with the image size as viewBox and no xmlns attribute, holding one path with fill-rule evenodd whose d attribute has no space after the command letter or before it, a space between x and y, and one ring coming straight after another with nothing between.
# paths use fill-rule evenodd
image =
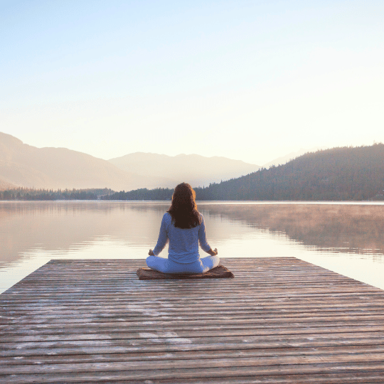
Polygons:
<instances>
[{"instance_id":1,"label":"pale blue to white hazy sky above the mountains","mask_svg":"<svg viewBox=\"0 0 384 384\"><path fill-rule=\"evenodd\" d=\"M384 142L384 1L1 1L0 132L265 164Z\"/></svg>"}]
</instances>

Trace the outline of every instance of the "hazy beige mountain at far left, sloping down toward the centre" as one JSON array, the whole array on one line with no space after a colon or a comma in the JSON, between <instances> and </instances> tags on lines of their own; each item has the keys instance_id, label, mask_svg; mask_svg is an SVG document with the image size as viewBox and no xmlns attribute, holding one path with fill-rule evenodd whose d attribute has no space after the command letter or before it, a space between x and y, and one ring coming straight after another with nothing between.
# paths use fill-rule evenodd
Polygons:
<instances>
[{"instance_id":1,"label":"hazy beige mountain at far left, sloping down toward the centre","mask_svg":"<svg viewBox=\"0 0 384 384\"><path fill-rule=\"evenodd\" d=\"M129 191L164 183L157 176L145 177L117 168L68 148L36 148L0 132L0 188L112 188Z\"/></svg>"}]
</instances>

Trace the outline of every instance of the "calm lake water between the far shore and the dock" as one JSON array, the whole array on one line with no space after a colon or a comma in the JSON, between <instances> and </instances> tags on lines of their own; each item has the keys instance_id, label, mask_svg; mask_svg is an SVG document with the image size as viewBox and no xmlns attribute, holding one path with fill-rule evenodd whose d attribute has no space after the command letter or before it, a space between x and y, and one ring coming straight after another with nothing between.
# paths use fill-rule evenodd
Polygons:
<instances>
[{"instance_id":1,"label":"calm lake water between the far shore and the dock","mask_svg":"<svg viewBox=\"0 0 384 384\"><path fill-rule=\"evenodd\" d=\"M51 259L144 259L168 208L0 202L0 292ZM223 265L225 257L298 257L384 289L383 203L198 202L198 209Z\"/></svg>"}]
</instances>

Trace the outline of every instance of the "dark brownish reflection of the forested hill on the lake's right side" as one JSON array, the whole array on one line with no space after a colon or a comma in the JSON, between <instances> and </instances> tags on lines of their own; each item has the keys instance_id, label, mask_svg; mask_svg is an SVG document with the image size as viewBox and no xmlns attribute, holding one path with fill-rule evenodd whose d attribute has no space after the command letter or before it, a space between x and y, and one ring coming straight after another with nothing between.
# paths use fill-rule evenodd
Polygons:
<instances>
[{"instance_id":1,"label":"dark brownish reflection of the forested hill on the lake's right side","mask_svg":"<svg viewBox=\"0 0 384 384\"><path fill-rule=\"evenodd\" d=\"M210 215L285 233L309 247L384 255L384 205L273 203L203 206Z\"/></svg>"}]
</instances>

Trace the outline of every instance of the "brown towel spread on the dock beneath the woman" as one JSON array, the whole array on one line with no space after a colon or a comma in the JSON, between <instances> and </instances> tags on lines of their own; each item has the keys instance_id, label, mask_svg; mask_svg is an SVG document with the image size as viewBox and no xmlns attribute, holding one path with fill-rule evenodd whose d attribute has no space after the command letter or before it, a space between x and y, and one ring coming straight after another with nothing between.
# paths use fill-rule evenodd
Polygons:
<instances>
[{"instance_id":1,"label":"brown towel spread on the dock beneath the woman","mask_svg":"<svg viewBox=\"0 0 384 384\"><path fill-rule=\"evenodd\" d=\"M175 280L175 279L223 279L229 278L232 279L233 273L230 272L223 265L218 265L212 270L209 270L206 273L163 273L155 270L151 270L149 268L139 268L137 270L137 276L139 276L140 280Z\"/></svg>"}]
</instances>

